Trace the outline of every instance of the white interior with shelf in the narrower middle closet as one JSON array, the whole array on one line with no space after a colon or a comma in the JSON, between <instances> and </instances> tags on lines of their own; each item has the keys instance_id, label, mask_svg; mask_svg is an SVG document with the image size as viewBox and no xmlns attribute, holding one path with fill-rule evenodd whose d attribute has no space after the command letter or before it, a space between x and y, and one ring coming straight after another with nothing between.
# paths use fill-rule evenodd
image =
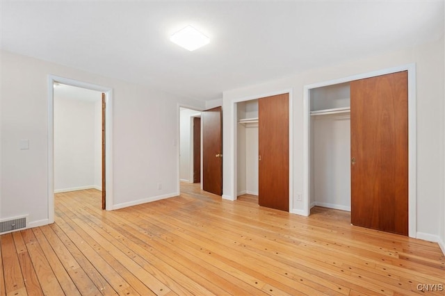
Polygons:
<instances>
[{"instance_id":1,"label":"white interior with shelf in the narrower middle closet","mask_svg":"<svg viewBox=\"0 0 445 296\"><path fill-rule=\"evenodd\" d=\"M237 195L258 195L258 99L237 105Z\"/></svg>"}]
</instances>

